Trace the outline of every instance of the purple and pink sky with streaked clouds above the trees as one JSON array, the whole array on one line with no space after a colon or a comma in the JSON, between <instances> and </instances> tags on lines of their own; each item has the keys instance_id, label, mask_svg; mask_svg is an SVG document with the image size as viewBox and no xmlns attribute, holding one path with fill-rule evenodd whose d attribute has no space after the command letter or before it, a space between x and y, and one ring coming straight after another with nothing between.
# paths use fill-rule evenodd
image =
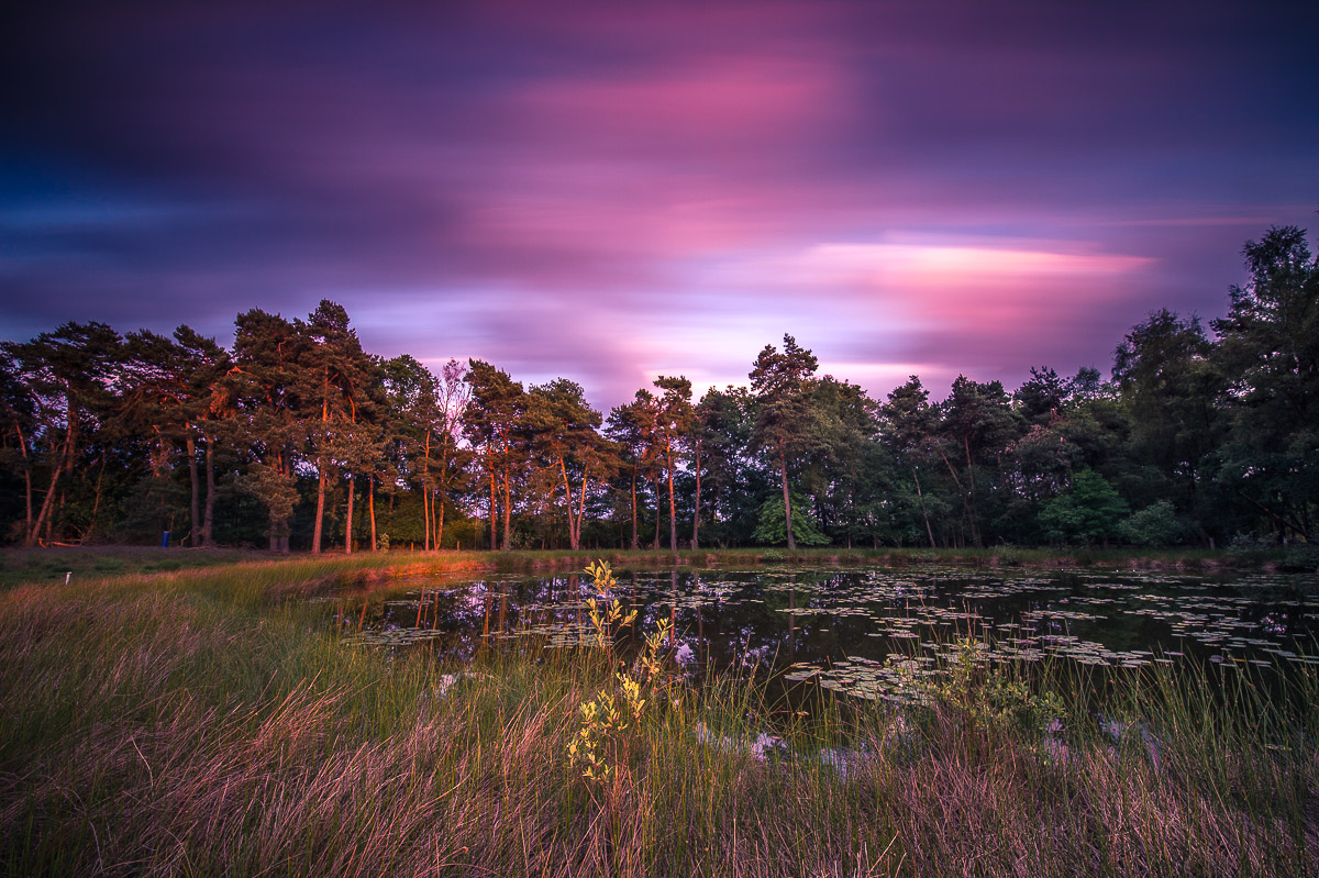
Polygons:
<instances>
[{"instance_id":1,"label":"purple and pink sky with streaked clouds above the trees","mask_svg":"<svg viewBox=\"0 0 1319 878\"><path fill-rule=\"evenodd\" d=\"M876 397L1097 366L1319 229L1319 5L59 3L0 51L0 337L372 353L603 410L791 334ZM1311 240L1315 240L1311 236Z\"/></svg>"}]
</instances>

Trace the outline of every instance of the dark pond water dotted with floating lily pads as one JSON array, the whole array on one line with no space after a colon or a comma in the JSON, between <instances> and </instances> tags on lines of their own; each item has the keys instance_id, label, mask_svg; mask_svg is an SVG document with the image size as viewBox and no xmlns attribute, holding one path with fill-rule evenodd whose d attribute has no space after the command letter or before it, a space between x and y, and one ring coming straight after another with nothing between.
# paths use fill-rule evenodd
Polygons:
<instances>
[{"instance_id":1,"label":"dark pond water dotted with floating lily pads","mask_svg":"<svg viewBox=\"0 0 1319 878\"><path fill-rule=\"evenodd\" d=\"M1232 672L1319 664L1319 576L1203 577L902 568L624 572L612 596L637 609L624 650L661 618L694 679L756 667L867 699L917 697L963 650L976 660L1138 668L1187 657ZM408 581L363 610L340 608L355 643L470 659L514 642L562 649L594 637L583 575Z\"/></svg>"}]
</instances>

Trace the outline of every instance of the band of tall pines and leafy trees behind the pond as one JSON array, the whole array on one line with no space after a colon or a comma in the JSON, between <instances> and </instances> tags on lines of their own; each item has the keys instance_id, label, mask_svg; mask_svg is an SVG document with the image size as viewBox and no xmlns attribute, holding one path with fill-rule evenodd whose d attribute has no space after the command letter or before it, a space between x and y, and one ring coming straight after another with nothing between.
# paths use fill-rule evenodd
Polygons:
<instances>
[{"instance_id":1,"label":"band of tall pines and leafy trees behind the pond","mask_svg":"<svg viewBox=\"0 0 1319 878\"><path fill-rule=\"evenodd\" d=\"M1105 380L918 376L871 398L785 335L749 385L580 385L363 349L347 311L231 348L70 322L0 345L0 537L322 552L712 546L1265 546L1319 513L1319 261L1244 248L1227 314L1157 310ZM566 364L571 365L571 364Z\"/></svg>"}]
</instances>

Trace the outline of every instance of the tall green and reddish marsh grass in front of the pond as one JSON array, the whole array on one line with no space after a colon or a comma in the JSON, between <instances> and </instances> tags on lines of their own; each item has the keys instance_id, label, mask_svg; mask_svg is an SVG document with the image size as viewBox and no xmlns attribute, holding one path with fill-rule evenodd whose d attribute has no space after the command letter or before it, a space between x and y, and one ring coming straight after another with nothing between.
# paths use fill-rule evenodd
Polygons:
<instances>
[{"instance_id":1,"label":"tall green and reddish marsh grass in front of the pond","mask_svg":"<svg viewBox=\"0 0 1319 878\"><path fill-rule=\"evenodd\" d=\"M351 646L311 596L371 559L0 595L0 873L1314 875L1319 684L1055 670L1060 730L671 687L592 792L599 651ZM1070 691L1074 689L1074 691ZM1092 699L1100 699L1096 718ZM781 746L760 747L772 733Z\"/></svg>"}]
</instances>

